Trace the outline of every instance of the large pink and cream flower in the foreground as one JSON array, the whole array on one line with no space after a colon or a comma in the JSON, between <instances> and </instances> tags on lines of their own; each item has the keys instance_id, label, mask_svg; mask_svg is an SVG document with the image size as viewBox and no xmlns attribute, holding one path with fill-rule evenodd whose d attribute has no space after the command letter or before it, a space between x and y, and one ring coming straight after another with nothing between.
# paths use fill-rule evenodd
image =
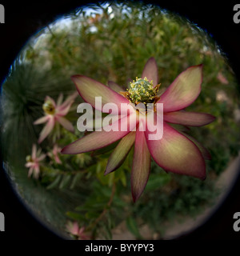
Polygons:
<instances>
[{"instance_id":1,"label":"large pink and cream flower in the foreground","mask_svg":"<svg viewBox=\"0 0 240 256\"><path fill-rule=\"evenodd\" d=\"M71 143L62 149L63 154L80 154L97 150L120 140L108 160L105 174L118 169L126 158L132 146L134 146L134 159L131 170L131 190L134 202L140 197L146 186L150 174L151 157L164 170L176 174L190 175L204 179L206 177L206 165L204 158L209 159L210 154L194 138L176 130L171 124L182 126L205 126L214 121L214 116L204 113L186 112L184 109L190 106L201 92L202 65L190 66L187 70L175 78L174 82L159 97L158 93L158 67L154 58L146 62L142 72L142 78L131 82L130 90L122 93L121 87L110 82L109 86L94 81L83 75L72 77L82 98L95 106L95 97L102 97L102 106L108 102L114 102L117 106L121 103L138 104L143 102L163 104L163 136L158 140L150 140L149 135L154 134L151 129L142 131L141 113L134 127L126 131L94 131L83 138ZM111 89L112 88L112 89ZM120 93L119 93L120 92ZM118 108L120 109L120 107ZM102 110L99 108L98 110ZM118 114L118 113L117 113ZM131 114L130 114L131 116ZM154 110L154 118L162 118ZM128 123L129 118L118 119L111 126L120 126Z\"/></svg>"}]
</instances>

